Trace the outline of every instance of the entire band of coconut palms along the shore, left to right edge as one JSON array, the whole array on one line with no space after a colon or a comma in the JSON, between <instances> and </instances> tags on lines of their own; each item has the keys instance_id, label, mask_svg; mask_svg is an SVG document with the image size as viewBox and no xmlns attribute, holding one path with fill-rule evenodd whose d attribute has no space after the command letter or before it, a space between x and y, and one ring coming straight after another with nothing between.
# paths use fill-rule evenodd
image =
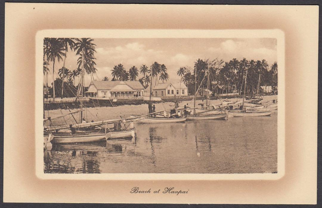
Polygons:
<instances>
[{"instance_id":1,"label":"entire band of coconut palms along the shore, left to right edge","mask_svg":"<svg viewBox=\"0 0 322 208\"><path fill-rule=\"evenodd\" d=\"M258 86L271 86L272 92L277 93L277 63L268 65L265 59L262 60L222 60L222 59L201 59L196 57L193 68L187 63L178 69L167 69L166 63L142 63L140 66L124 67L121 63L115 65L110 75L99 78L95 68L94 39L91 38L44 38L43 41L43 74L44 87L47 89L45 96L75 97L80 87L80 75L82 67L92 81L139 81L144 88L157 82L165 83L169 80L167 70L175 70L178 78L188 87L188 93L194 94L194 85L206 88L214 94L221 93L244 93L243 82L247 71L247 93L260 91ZM67 52L75 51L77 68L65 67ZM107 57L108 58L108 57ZM63 62L62 68L56 68L57 62ZM152 65L151 65L152 64ZM209 73L207 73L209 70ZM52 80L48 80L48 74L52 74ZM209 79L208 79L209 76ZM259 83L260 82L260 83Z\"/></svg>"}]
</instances>

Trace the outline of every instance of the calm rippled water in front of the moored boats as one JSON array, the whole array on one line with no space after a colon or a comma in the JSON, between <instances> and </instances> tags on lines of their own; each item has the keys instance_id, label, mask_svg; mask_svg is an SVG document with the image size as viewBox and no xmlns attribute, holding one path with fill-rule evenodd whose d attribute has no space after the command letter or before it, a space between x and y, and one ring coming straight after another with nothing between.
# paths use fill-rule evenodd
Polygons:
<instances>
[{"instance_id":1,"label":"calm rippled water in front of the moored boats","mask_svg":"<svg viewBox=\"0 0 322 208\"><path fill-rule=\"evenodd\" d=\"M54 145L45 173L271 173L277 111L270 117L136 124L137 139ZM72 151L76 150L76 156Z\"/></svg>"}]
</instances>

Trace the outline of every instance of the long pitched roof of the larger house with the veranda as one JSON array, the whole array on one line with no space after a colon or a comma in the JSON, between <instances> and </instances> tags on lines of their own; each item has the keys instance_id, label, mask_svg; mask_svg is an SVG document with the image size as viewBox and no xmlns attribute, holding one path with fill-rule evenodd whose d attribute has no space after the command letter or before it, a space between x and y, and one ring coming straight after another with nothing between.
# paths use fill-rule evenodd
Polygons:
<instances>
[{"instance_id":1,"label":"long pitched roof of the larger house with the veranda","mask_svg":"<svg viewBox=\"0 0 322 208\"><path fill-rule=\"evenodd\" d=\"M144 87L139 81L92 81L90 85L93 84L97 90L111 90L118 84L127 84L133 90L143 90Z\"/></svg>"}]
</instances>

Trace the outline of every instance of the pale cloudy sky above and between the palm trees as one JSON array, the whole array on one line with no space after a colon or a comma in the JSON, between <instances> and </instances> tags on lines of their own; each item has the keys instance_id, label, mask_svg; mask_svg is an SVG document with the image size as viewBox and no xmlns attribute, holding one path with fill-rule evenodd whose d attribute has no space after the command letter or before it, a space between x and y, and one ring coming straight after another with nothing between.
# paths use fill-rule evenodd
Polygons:
<instances>
[{"instance_id":1,"label":"pale cloudy sky above and between the palm trees","mask_svg":"<svg viewBox=\"0 0 322 208\"><path fill-rule=\"evenodd\" d=\"M111 69L120 63L128 71L133 65L139 69L143 64L150 66L156 61L166 65L170 82L178 82L176 71L181 66L189 66L193 69L194 62L198 58L219 58L227 62L232 58L241 60L243 57L249 60L266 59L269 65L277 61L277 40L271 38L94 39L93 43L96 44L97 51L95 54L97 75L94 75L97 80L102 80L104 76L111 80ZM70 70L77 68L77 58L74 52L69 51L65 67ZM63 63L62 61L56 63L55 71L58 72ZM50 69L52 69L52 63ZM140 74L139 77L141 77ZM48 80L51 79L49 75ZM89 83L88 75L85 85Z\"/></svg>"}]
</instances>

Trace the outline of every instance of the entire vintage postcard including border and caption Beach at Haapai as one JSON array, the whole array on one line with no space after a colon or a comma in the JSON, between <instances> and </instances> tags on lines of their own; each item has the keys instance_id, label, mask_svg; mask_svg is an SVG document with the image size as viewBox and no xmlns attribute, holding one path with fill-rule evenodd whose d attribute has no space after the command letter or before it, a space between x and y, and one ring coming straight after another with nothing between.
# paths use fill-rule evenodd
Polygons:
<instances>
[{"instance_id":1,"label":"entire vintage postcard including border and caption Beach at Haapai","mask_svg":"<svg viewBox=\"0 0 322 208\"><path fill-rule=\"evenodd\" d=\"M6 201L314 204L316 178L290 178L316 173L317 7L6 7L5 68L13 70L6 70ZM70 16L71 8L80 13ZM29 26L14 23L16 9L32 20ZM142 16L155 9L168 15L162 21L153 12ZM46 22L45 11L70 22ZM116 11L124 16L116 18ZM192 16L180 19L184 11ZM197 11L214 25L201 24ZM302 21L296 25L307 28L290 29L291 17L268 18L295 11ZM218 22L228 13L230 20ZM300 29L311 33L304 37ZM24 39L11 35L18 30L26 31ZM24 53L19 59L18 45L29 48L17 50ZM19 96L17 85L28 93ZM312 101L310 108L304 100ZM13 128L27 125L29 133ZM9 195L18 166L28 166L21 168L29 178L25 193L25 185L37 186L29 198ZM308 194L294 194L295 186ZM284 198L277 197L281 190Z\"/></svg>"}]
</instances>

